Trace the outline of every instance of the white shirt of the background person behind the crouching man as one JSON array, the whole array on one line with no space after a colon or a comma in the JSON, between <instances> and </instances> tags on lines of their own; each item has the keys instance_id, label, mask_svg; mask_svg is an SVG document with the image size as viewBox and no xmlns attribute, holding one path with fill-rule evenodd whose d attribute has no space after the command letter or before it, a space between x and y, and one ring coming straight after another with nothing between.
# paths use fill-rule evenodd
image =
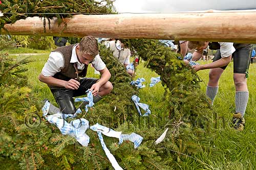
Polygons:
<instances>
[{"instance_id":1,"label":"white shirt of the background person behind the crouching man","mask_svg":"<svg viewBox=\"0 0 256 170\"><path fill-rule=\"evenodd\" d=\"M121 48L120 43L113 41L105 41L107 48L113 51L113 56L118 58L118 61L122 64L130 64L131 51L129 48ZM119 55L120 53L120 55Z\"/></svg>"}]
</instances>

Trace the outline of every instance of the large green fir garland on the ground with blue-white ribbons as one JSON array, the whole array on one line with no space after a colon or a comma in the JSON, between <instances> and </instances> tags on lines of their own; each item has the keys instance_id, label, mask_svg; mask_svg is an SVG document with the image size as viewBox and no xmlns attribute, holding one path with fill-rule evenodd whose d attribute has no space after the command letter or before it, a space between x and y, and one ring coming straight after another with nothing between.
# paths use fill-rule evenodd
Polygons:
<instances>
[{"instance_id":1,"label":"large green fir garland on the ground with blue-white ribbons","mask_svg":"<svg viewBox=\"0 0 256 170\"><path fill-rule=\"evenodd\" d=\"M140 117L131 101L131 96L136 94L137 90L129 84L131 77L113 57L112 52L101 46L100 55L111 71L114 90L89 113L79 116L88 119L91 125L99 123L123 133L135 132L144 137L136 150L131 142L118 145L116 139L104 138L121 167L178 168L180 161L187 158L184 155L193 156L211 148L208 120L212 110L208 99L199 89L196 74L190 67L185 66L183 61L177 59L176 53L156 40L129 40L129 43L130 47L136 49L137 54L147 61L146 66L161 76L166 87L165 103L170 111L161 115L150 115L150 119L154 120L152 123L148 122L150 128L138 128ZM26 64L27 60L16 64L4 57L1 61L3 72L8 72L1 75L9 75L8 78L0 79L0 94L3 99L0 103L0 144L3 146L0 151L1 162L9 162L20 168L112 168L95 132L87 131L90 143L88 147L82 147L74 138L61 135L54 125L49 125L43 118L39 126L28 128L24 124L26 115L37 113L42 104L33 99L35 96L30 93L25 77L13 77L17 76L16 72L25 71L21 66ZM161 117L169 119L162 120ZM158 124L153 125L156 121ZM155 145L163 127L170 130L165 140Z\"/></svg>"}]
</instances>

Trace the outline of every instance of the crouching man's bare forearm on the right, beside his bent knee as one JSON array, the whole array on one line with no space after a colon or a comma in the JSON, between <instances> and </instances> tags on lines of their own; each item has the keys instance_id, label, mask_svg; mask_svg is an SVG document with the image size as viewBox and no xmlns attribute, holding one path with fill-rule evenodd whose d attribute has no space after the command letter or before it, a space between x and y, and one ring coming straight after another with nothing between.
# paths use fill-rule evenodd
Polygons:
<instances>
[{"instance_id":1,"label":"crouching man's bare forearm on the right, beside his bent knee","mask_svg":"<svg viewBox=\"0 0 256 170\"><path fill-rule=\"evenodd\" d=\"M95 83L94 85L92 85L91 89L92 90L92 93L93 95L97 95L98 92L99 92L99 88L105 84L106 82L108 82L111 78L111 74L110 74L110 71L108 68L104 68L102 70L99 71L100 72L100 79L98 80L97 83Z\"/></svg>"}]
</instances>

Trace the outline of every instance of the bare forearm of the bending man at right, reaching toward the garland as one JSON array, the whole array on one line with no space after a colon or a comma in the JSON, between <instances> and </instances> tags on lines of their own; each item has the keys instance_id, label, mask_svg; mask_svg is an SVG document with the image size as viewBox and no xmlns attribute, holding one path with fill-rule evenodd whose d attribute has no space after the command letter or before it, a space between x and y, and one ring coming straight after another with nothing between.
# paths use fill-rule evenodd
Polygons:
<instances>
[{"instance_id":1,"label":"bare forearm of the bending man at right, reaching toward the garland","mask_svg":"<svg viewBox=\"0 0 256 170\"><path fill-rule=\"evenodd\" d=\"M219 67L228 65L230 61L231 61L231 55L229 57L221 58L220 60L217 60L209 64L194 65L192 66L192 68L194 68L196 71L199 71L202 69L209 69L209 68L219 68Z\"/></svg>"}]
</instances>

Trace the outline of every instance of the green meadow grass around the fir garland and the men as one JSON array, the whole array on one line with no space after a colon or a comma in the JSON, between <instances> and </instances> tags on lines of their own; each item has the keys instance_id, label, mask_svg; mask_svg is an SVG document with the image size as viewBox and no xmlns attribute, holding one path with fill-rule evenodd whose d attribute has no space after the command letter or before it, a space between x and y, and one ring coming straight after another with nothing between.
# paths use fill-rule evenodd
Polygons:
<instances>
[{"instance_id":1,"label":"green meadow grass around the fir garland and the men","mask_svg":"<svg viewBox=\"0 0 256 170\"><path fill-rule=\"evenodd\" d=\"M27 50L30 53L31 50ZM32 50L33 51L33 50ZM23 52L26 52L23 49ZM11 51L14 53L14 51ZM15 51L16 53L16 51ZM35 52L33 52L35 53ZM44 66L48 59L49 51L37 53L46 53L45 55L31 56L35 62L28 65L27 76L29 84L33 88L33 92L38 95L38 100L48 98L54 103L53 96L46 84L38 81L41 68ZM15 56L12 56L15 57ZM17 57L17 60L23 57ZM211 62L211 61L208 61ZM206 62L200 62L201 64ZM256 118L255 107L256 104L256 64L251 64L249 69L248 88L249 88L249 101L246 109L245 119L246 128L243 132L236 132L228 126L234 112L234 94L235 89L233 85L233 63L231 62L227 69L224 71L220 83L219 93L215 100L213 109L218 114L217 129L213 128L215 135L212 136L214 148L219 152L200 152L194 155L193 158L186 157L182 162L177 162L181 169L197 169L204 167L204 169L255 169L256 168ZM209 70L201 70L198 75L207 84ZM139 97L142 103L150 105L152 114L157 116L162 112L166 112L165 102L163 99L164 87L161 83L150 88L151 77L157 77L155 72L143 67L143 61L137 67L136 78L143 77L146 79L144 84L145 88L140 89ZM98 77L94 75L94 70L89 67L88 77ZM206 84L201 83L201 89L205 91ZM56 103L55 103L56 105Z\"/></svg>"}]
</instances>

